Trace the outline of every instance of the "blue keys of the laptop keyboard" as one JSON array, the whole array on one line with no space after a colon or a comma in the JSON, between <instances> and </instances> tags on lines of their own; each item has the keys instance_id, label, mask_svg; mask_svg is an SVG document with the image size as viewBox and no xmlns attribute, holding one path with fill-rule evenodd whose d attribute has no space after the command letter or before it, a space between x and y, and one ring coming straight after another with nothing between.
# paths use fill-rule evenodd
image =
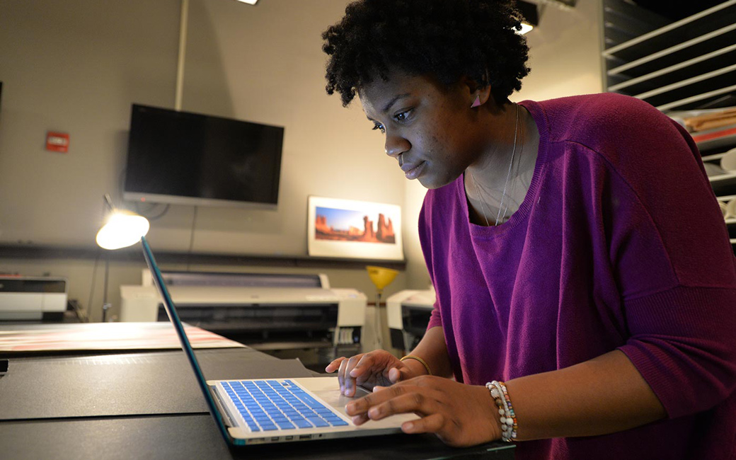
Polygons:
<instances>
[{"instance_id":1,"label":"blue keys of the laptop keyboard","mask_svg":"<svg viewBox=\"0 0 736 460\"><path fill-rule=\"evenodd\" d=\"M291 381L224 381L222 386L250 431L345 426L325 407Z\"/></svg>"}]
</instances>

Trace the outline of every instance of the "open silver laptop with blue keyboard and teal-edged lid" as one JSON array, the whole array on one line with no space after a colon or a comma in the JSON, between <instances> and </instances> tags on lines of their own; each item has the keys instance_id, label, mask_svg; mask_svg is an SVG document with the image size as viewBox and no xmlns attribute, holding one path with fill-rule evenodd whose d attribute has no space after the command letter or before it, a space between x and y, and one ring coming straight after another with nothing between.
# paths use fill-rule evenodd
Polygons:
<instances>
[{"instance_id":1,"label":"open silver laptop with blue keyboard and teal-edged lid","mask_svg":"<svg viewBox=\"0 0 736 460\"><path fill-rule=\"evenodd\" d=\"M205 380L146 237L141 238L141 244L166 314L177 331L210 414L228 444L242 446L394 434L401 432L403 422L417 419L414 414L401 414L353 425L345 413L345 405L355 398L340 394L337 377ZM356 397L366 394L367 390L358 389Z\"/></svg>"}]
</instances>

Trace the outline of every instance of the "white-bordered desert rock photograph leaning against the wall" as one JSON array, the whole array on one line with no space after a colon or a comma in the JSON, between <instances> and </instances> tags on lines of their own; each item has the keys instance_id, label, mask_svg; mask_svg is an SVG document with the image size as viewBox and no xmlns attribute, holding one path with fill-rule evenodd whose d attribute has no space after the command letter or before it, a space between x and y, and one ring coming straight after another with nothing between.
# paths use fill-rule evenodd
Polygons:
<instances>
[{"instance_id":1,"label":"white-bordered desert rock photograph leaning against the wall","mask_svg":"<svg viewBox=\"0 0 736 460\"><path fill-rule=\"evenodd\" d=\"M308 198L307 248L311 256L404 258L401 207L337 198Z\"/></svg>"}]
</instances>

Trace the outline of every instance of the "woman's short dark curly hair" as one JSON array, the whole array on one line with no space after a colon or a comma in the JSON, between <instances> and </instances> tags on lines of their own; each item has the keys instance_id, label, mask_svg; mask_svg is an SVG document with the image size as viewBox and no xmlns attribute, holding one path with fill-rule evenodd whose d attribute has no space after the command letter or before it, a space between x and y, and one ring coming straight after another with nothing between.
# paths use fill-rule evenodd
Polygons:
<instances>
[{"instance_id":1,"label":"woman's short dark curly hair","mask_svg":"<svg viewBox=\"0 0 736 460\"><path fill-rule=\"evenodd\" d=\"M528 46L513 0L359 0L322 38L327 92L350 104L389 71L431 75L444 85L463 76L491 85L498 104L521 89Z\"/></svg>"}]
</instances>

